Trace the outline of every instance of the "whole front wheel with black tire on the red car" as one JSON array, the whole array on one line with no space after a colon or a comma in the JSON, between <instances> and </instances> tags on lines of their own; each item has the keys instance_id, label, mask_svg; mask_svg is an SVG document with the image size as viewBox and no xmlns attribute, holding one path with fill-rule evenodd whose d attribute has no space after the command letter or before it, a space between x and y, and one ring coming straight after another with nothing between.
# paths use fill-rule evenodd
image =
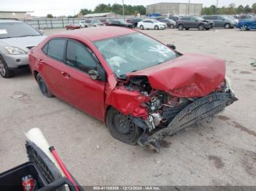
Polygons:
<instances>
[{"instance_id":1,"label":"whole front wheel with black tire on the red car","mask_svg":"<svg viewBox=\"0 0 256 191\"><path fill-rule=\"evenodd\" d=\"M129 119L129 116L121 114L112 107L108 109L106 115L106 126L114 138L131 145L137 144L143 131Z\"/></svg>"}]
</instances>

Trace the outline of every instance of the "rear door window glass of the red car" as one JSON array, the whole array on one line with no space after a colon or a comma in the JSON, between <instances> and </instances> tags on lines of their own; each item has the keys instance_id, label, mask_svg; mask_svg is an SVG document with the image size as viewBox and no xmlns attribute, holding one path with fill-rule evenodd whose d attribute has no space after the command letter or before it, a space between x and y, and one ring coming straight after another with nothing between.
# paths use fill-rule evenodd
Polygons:
<instances>
[{"instance_id":1,"label":"rear door window glass of the red car","mask_svg":"<svg viewBox=\"0 0 256 191\"><path fill-rule=\"evenodd\" d=\"M64 61L66 39L51 39L48 42L47 54L58 61Z\"/></svg>"}]
</instances>

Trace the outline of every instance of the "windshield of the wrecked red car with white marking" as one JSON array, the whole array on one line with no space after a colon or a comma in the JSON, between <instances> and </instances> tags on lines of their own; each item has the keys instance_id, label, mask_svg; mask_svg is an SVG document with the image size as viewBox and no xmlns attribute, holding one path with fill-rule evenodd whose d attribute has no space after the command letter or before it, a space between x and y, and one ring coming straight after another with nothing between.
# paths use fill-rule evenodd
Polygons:
<instances>
[{"instance_id":1,"label":"windshield of the wrecked red car with white marking","mask_svg":"<svg viewBox=\"0 0 256 191\"><path fill-rule=\"evenodd\" d=\"M176 58L176 52L140 33L104 39L94 44L118 77Z\"/></svg>"}]
</instances>

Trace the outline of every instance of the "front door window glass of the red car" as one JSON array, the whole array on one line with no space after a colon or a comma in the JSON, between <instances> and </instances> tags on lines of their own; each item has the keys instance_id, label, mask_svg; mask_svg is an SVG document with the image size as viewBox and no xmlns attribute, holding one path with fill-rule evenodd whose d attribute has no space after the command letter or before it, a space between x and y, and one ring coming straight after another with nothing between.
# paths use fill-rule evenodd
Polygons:
<instances>
[{"instance_id":1,"label":"front door window glass of the red car","mask_svg":"<svg viewBox=\"0 0 256 191\"><path fill-rule=\"evenodd\" d=\"M93 55L83 44L68 40L67 42L67 65L88 73L91 69L97 69L97 62Z\"/></svg>"}]
</instances>

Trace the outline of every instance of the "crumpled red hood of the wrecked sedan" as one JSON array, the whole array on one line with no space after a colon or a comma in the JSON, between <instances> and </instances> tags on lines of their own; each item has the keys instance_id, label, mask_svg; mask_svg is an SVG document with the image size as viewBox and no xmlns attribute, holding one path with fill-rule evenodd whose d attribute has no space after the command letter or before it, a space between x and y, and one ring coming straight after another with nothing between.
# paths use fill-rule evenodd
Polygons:
<instances>
[{"instance_id":1,"label":"crumpled red hood of the wrecked sedan","mask_svg":"<svg viewBox=\"0 0 256 191\"><path fill-rule=\"evenodd\" d=\"M216 90L225 78L225 61L210 56L185 54L127 76L146 76L152 88L178 97L203 97Z\"/></svg>"}]
</instances>

